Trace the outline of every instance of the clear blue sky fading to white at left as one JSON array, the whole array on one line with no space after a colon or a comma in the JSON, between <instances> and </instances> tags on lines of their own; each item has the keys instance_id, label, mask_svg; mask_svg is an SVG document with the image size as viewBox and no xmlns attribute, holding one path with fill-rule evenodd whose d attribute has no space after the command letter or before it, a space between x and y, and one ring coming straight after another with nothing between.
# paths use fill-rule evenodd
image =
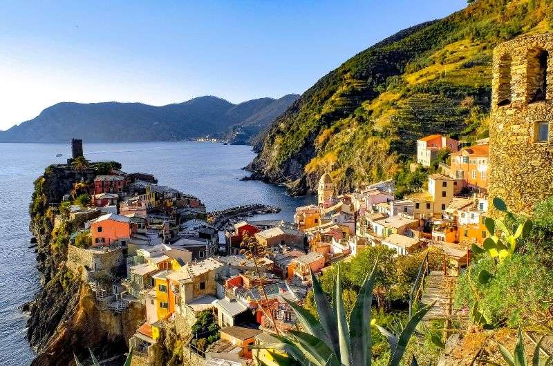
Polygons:
<instances>
[{"instance_id":1,"label":"clear blue sky fading to white at left","mask_svg":"<svg viewBox=\"0 0 553 366\"><path fill-rule=\"evenodd\" d=\"M301 94L466 0L0 0L0 130L58 102L161 106Z\"/></svg>"}]
</instances>

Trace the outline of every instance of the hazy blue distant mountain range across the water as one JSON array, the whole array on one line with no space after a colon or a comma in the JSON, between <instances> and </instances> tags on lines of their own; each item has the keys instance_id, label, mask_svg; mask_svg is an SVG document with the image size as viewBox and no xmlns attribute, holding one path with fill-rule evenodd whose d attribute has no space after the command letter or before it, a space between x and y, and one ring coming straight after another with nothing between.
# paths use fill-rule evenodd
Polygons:
<instances>
[{"instance_id":1,"label":"hazy blue distant mountain range across the water","mask_svg":"<svg viewBox=\"0 0 553 366\"><path fill-rule=\"evenodd\" d=\"M70 103L50 106L40 115L0 132L0 142L140 142L191 139L207 135L232 137L229 131L254 126L257 133L299 97L259 98L240 104L205 96L179 104ZM247 142L250 137L241 139Z\"/></svg>"}]
</instances>

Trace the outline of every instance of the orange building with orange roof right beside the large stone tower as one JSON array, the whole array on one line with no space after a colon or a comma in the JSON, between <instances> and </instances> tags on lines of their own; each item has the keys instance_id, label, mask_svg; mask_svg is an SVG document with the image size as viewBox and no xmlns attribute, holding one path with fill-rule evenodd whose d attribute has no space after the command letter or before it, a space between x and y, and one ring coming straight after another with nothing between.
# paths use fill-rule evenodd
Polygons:
<instances>
[{"instance_id":1,"label":"orange building with orange roof right beside the large stone tower","mask_svg":"<svg viewBox=\"0 0 553 366\"><path fill-rule=\"evenodd\" d=\"M453 178L472 188L488 186L489 145L475 145L451 154Z\"/></svg>"}]
</instances>

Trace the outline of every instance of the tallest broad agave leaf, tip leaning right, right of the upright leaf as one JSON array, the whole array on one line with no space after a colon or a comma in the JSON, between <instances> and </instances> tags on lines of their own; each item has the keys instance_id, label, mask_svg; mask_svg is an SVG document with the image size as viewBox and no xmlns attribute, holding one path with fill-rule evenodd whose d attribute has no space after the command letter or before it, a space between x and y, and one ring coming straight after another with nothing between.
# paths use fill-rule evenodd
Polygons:
<instances>
[{"instance_id":1,"label":"tallest broad agave leaf, tip leaning right, right of the upright leaf","mask_svg":"<svg viewBox=\"0 0 553 366\"><path fill-rule=\"evenodd\" d=\"M350 338L353 352L353 365L371 366L373 342L371 338L371 309L373 307L373 286L375 284L376 265L365 278L357 301L350 314Z\"/></svg>"}]
</instances>

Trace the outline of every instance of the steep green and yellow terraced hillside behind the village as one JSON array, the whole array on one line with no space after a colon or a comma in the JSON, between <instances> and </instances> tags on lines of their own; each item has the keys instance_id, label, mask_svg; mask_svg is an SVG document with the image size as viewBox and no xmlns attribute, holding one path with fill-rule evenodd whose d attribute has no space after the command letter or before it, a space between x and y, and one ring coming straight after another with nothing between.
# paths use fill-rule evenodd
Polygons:
<instances>
[{"instance_id":1,"label":"steep green and yellow terraced hillside behind the village","mask_svg":"<svg viewBox=\"0 0 553 366\"><path fill-rule=\"evenodd\" d=\"M331 171L346 191L400 173L424 135L487 137L494 46L552 24L552 0L478 0L398 32L301 95L250 168L293 193L315 189Z\"/></svg>"}]
</instances>

